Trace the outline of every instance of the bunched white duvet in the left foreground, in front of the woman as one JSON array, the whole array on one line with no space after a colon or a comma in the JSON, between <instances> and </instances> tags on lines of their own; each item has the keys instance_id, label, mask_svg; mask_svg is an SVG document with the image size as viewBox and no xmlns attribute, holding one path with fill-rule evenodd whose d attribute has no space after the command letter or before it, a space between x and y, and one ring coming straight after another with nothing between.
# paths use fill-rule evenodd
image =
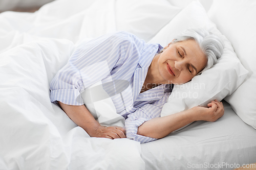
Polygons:
<instances>
[{"instance_id":1,"label":"bunched white duvet in the left foreground, in front of the woman","mask_svg":"<svg viewBox=\"0 0 256 170\"><path fill-rule=\"evenodd\" d=\"M0 169L143 169L140 143L90 138L49 100L73 43L44 39L0 55Z\"/></svg>"}]
</instances>

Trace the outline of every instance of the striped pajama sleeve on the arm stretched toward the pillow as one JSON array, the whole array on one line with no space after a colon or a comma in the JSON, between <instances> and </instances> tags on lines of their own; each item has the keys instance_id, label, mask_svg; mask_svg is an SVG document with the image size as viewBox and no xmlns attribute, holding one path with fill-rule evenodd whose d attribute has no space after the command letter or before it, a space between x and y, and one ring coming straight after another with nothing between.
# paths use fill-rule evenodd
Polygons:
<instances>
[{"instance_id":1,"label":"striped pajama sleeve on the arm stretched toward the pillow","mask_svg":"<svg viewBox=\"0 0 256 170\"><path fill-rule=\"evenodd\" d=\"M167 102L169 94L170 93L165 93L162 99L152 104L146 104L127 116L128 118L125 120L125 133L127 138L139 141L140 143L157 140L156 138L138 135L138 127L147 120L160 117L162 107Z\"/></svg>"}]
</instances>

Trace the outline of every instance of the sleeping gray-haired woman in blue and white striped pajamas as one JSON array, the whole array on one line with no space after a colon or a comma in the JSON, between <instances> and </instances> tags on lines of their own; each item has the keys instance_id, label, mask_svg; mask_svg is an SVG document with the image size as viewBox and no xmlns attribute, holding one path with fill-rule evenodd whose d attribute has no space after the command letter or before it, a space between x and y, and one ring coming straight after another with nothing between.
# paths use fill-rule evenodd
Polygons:
<instances>
[{"instance_id":1,"label":"sleeping gray-haired woman in blue and white striped pajamas","mask_svg":"<svg viewBox=\"0 0 256 170\"><path fill-rule=\"evenodd\" d=\"M91 137L130 138L141 143L167 136L196 120L215 122L224 114L221 102L160 117L175 84L209 69L223 53L222 40L203 29L188 29L165 47L145 43L133 34L116 32L81 43L50 85L58 103ZM79 73L79 74L78 74ZM130 90L111 96L125 128L101 126L83 103L80 92L98 81L128 82ZM119 83L115 90L123 88ZM125 87L126 88L126 87Z\"/></svg>"}]
</instances>

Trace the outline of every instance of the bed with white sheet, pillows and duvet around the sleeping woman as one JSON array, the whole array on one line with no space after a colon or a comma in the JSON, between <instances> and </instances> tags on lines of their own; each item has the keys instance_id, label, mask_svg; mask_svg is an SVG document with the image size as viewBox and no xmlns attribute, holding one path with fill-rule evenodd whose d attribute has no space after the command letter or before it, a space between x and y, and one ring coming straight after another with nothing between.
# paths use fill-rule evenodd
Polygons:
<instances>
[{"instance_id":1,"label":"bed with white sheet, pillows and duvet around the sleeping woman","mask_svg":"<svg viewBox=\"0 0 256 170\"><path fill-rule=\"evenodd\" d=\"M234 169L255 163L255 8L254 1L231 0L58 0L34 13L1 13L0 169ZM225 113L216 122L194 122L140 144L90 137L50 102L50 82L79 42L127 31L164 46L188 27L222 35L227 57L212 68L215 77L205 72L190 82L206 84L203 89L176 86L161 116L218 99ZM218 81L209 82L209 75ZM197 97L174 96L189 90Z\"/></svg>"}]
</instances>

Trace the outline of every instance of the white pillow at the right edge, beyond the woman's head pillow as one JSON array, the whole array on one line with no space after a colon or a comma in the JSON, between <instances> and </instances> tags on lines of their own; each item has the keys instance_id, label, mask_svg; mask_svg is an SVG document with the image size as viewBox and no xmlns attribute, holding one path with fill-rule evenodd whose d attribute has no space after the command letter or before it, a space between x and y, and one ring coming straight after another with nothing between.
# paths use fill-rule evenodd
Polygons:
<instances>
[{"instance_id":1,"label":"white pillow at the right edge, beyond the woman's head pillow","mask_svg":"<svg viewBox=\"0 0 256 170\"><path fill-rule=\"evenodd\" d=\"M208 16L230 40L241 63L249 71L244 83L225 98L248 125L256 129L256 3L255 1L214 1Z\"/></svg>"}]
</instances>

